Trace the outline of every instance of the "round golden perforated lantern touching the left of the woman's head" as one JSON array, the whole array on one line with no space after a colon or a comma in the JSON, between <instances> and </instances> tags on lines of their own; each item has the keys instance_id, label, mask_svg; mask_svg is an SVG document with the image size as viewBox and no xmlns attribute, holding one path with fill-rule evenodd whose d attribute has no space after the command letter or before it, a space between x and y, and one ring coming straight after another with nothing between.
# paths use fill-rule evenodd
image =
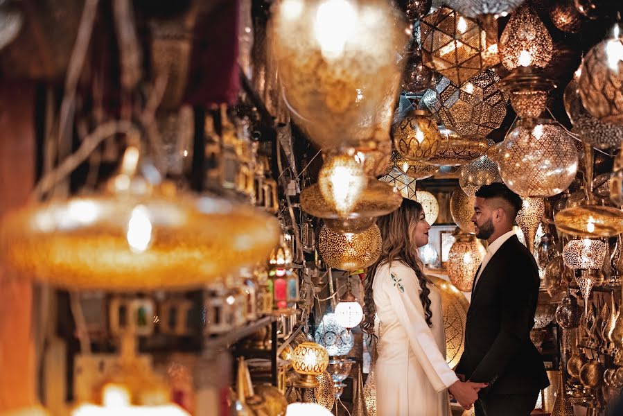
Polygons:
<instances>
[{"instance_id":1,"label":"round golden perforated lantern touching the left of the woman's head","mask_svg":"<svg viewBox=\"0 0 623 416\"><path fill-rule=\"evenodd\" d=\"M373 225L360 234L335 234L324 226L318 237L318 250L327 266L354 271L367 268L380 255L380 230Z\"/></svg>"}]
</instances>

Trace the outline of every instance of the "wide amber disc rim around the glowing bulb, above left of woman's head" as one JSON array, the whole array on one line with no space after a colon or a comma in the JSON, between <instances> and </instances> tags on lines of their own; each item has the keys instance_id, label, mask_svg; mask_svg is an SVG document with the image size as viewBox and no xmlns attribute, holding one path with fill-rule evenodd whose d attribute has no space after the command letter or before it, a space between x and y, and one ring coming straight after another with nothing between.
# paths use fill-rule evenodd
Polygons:
<instances>
[{"instance_id":1,"label":"wide amber disc rim around the glowing bulb, above left of woman's head","mask_svg":"<svg viewBox=\"0 0 623 416\"><path fill-rule=\"evenodd\" d=\"M400 207L402 202L400 193L394 192L390 185L371 179L351 214L342 217L322 196L318 184L313 184L301 192L302 209L318 218L354 219L383 216Z\"/></svg>"}]
</instances>

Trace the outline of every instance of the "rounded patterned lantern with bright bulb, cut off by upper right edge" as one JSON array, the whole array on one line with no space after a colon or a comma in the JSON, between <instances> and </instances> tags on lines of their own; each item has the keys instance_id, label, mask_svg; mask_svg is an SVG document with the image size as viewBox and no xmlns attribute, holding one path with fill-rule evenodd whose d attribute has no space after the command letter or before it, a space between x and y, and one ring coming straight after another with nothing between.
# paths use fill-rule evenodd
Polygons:
<instances>
[{"instance_id":1,"label":"rounded patterned lantern with bright bulb, cut off by upper right edge","mask_svg":"<svg viewBox=\"0 0 623 416\"><path fill-rule=\"evenodd\" d=\"M582 60L577 81L586 111L604 123L623 124L623 27L593 46Z\"/></svg>"}]
</instances>

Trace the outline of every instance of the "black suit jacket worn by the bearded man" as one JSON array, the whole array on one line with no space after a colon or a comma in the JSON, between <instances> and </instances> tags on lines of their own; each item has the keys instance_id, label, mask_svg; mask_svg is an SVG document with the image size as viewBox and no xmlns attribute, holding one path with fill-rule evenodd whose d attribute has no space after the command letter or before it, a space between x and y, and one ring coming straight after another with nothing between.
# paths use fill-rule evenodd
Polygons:
<instances>
[{"instance_id":1,"label":"black suit jacket worn by the bearded man","mask_svg":"<svg viewBox=\"0 0 623 416\"><path fill-rule=\"evenodd\" d=\"M539 284L536 261L517 236L505 241L482 271L456 368L468 380L490 383L481 395L534 393L550 384L530 340Z\"/></svg>"}]
</instances>

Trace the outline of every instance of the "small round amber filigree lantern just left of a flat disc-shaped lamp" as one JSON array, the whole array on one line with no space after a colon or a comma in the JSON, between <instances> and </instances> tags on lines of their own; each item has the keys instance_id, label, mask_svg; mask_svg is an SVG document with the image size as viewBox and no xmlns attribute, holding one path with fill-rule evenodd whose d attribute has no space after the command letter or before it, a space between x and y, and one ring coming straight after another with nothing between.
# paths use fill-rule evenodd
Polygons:
<instances>
[{"instance_id":1,"label":"small round amber filigree lantern just left of a flat disc-shaped lamp","mask_svg":"<svg viewBox=\"0 0 623 416\"><path fill-rule=\"evenodd\" d=\"M440 141L437 123L426 110L412 110L394 128L394 146L409 160L425 161L435 154Z\"/></svg>"}]
</instances>

